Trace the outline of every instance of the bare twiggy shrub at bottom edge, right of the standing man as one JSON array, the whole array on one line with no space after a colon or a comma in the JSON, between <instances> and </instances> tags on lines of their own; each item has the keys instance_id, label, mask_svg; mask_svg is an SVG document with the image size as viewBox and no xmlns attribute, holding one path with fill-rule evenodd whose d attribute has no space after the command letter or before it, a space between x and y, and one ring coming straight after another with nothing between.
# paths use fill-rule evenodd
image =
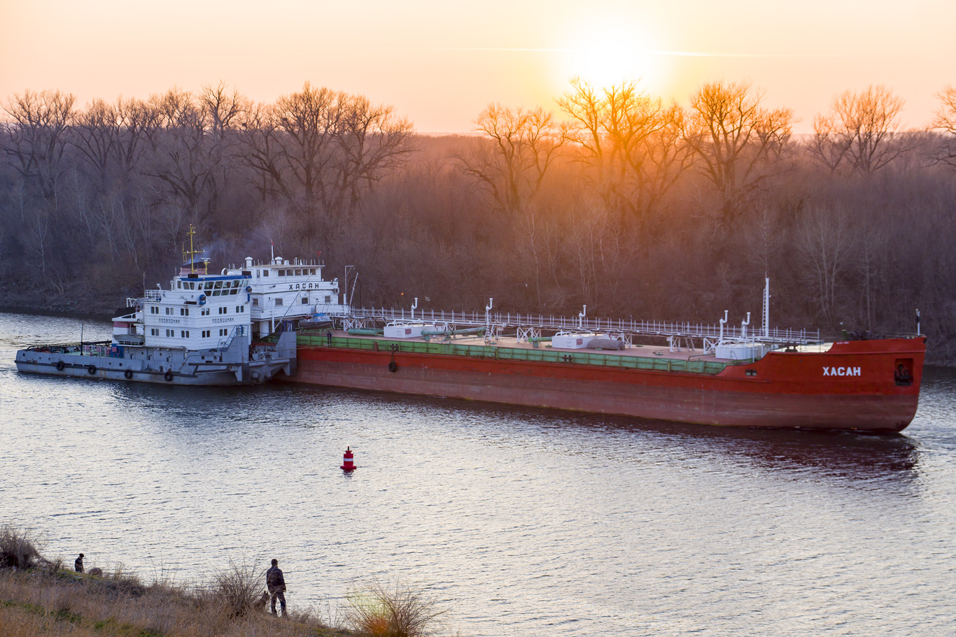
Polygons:
<instances>
[{"instance_id":1,"label":"bare twiggy shrub at bottom edge, right of the standing man","mask_svg":"<svg viewBox=\"0 0 956 637\"><path fill-rule=\"evenodd\" d=\"M434 634L436 620L445 612L423 588L401 583L389 590L376 582L350 593L348 603L346 618L367 637L425 637Z\"/></svg>"}]
</instances>

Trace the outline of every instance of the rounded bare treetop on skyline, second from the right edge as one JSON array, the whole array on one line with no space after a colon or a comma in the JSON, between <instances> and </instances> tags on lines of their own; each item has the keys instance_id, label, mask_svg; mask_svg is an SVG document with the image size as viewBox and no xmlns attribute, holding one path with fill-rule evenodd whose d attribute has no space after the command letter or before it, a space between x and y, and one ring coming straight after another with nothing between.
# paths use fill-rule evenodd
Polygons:
<instances>
[{"instance_id":1,"label":"rounded bare treetop on skyline, second from the right edge","mask_svg":"<svg viewBox=\"0 0 956 637\"><path fill-rule=\"evenodd\" d=\"M902 106L902 98L881 85L845 91L834 98L830 113L815 118L810 150L834 172L880 170L908 150L899 133Z\"/></svg>"}]
</instances>

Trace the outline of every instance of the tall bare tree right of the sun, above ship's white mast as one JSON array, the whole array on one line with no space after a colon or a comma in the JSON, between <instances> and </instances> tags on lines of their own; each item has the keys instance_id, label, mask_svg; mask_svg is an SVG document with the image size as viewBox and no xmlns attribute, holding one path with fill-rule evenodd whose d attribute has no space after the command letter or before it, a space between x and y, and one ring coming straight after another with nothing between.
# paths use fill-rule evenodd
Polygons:
<instances>
[{"instance_id":1,"label":"tall bare tree right of the sun, above ship's white mast","mask_svg":"<svg viewBox=\"0 0 956 637\"><path fill-rule=\"evenodd\" d=\"M793 111L767 110L750 83L710 82L690 97L684 140L701 159L721 200L724 220L739 213L741 200L768 176L774 152L792 134Z\"/></svg>"}]
</instances>

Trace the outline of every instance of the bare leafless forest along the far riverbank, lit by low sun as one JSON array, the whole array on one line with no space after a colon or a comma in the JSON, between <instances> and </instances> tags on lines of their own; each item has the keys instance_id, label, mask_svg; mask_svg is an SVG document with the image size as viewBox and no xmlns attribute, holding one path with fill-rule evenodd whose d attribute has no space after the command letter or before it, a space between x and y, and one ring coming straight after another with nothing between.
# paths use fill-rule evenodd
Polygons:
<instances>
[{"instance_id":1,"label":"bare leafless forest along the far riverbank, lit by low sun","mask_svg":"<svg viewBox=\"0 0 956 637\"><path fill-rule=\"evenodd\" d=\"M491 103L467 136L306 83L0 111L0 307L110 310L163 286L189 225L217 270L320 256L365 306L911 333L956 363L956 89L923 129L871 86L809 135L747 83L685 104L572 80L554 113ZM351 281L351 279L350 279ZM350 284L351 286L351 284Z\"/></svg>"}]
</instances>

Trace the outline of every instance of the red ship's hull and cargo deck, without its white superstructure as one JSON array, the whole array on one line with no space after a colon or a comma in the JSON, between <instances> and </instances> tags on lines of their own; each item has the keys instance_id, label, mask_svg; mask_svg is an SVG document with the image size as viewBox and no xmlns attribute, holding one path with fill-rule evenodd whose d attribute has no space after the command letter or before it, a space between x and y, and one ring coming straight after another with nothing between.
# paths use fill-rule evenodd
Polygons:
<instances>
[{"instance_id":1,"label":"red ship's hull and cargo deck, without its white superstructure","mask_svg":"<svg viewBox=\"0 0 956 637\"><path fill-rule=\"evenodd\" d=\"M768 300L765 291L765 325ZM489 312L449 320L365 310L331 338L300 334L289 380L724 426L889 433L916 414L923 336L824 343L805 331L748 336L750 315L736 331L725 332L721 321L719 336L701 326L583 317L549 324ZM486 328L456 329L482 319ZM379 333L374 326L384 321ZM573 329L540 335L569 321ZM515 335L498 335L501 326ZM668 344L631 343L641 337ZM703 347L693 347L695 338Z\"/></svg>"}]
</instances>

